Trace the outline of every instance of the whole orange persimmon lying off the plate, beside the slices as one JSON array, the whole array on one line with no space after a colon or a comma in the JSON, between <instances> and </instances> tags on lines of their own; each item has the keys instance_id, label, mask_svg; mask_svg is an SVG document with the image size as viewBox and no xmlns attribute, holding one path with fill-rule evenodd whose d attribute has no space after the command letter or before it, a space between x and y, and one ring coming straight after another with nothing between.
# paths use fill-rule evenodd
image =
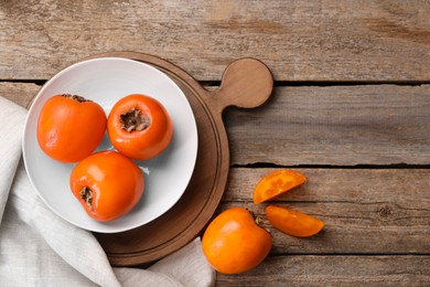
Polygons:
<instances>
[{"instance_id":1,"label":"whole orange persimmon lying off the plate, beside the slices","mask_svg":"<svg viewBox=\"0 0 430 287\"><path fill-rule=\"evenodd\" d=\"M204 255L223 274L252 269L266 258L271 245L271 235L243 208L232 208L217 215L202 238Z\"/></svg>"}]
</instances>

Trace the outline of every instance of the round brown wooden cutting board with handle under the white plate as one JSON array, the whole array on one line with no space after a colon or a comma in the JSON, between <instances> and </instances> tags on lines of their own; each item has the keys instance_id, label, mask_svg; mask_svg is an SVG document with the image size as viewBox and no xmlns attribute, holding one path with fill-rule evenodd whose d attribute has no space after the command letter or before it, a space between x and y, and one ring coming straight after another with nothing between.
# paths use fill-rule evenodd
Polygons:
<instances>
[{"instance_id":1,"label":"round brown wooden cutting board with handle under the white plate","mask_svg":"<svg viewBox=\"0 0 430 287\"><path fill-rule=\"evenodd\" d=\"M162 216L131 231L96 237L114 266L144 265L186 245L205 227L223 196L229 170L229 149L223 123L228 106L254 108L270 96L273 78L258 60L241 59L224 72L221 87L208 92L180 67L162 59L136 52L112 52L94 57L127 57L164 72L183 91L198 131L197 160L180 201Z\"/></svg>"}]
</instances>

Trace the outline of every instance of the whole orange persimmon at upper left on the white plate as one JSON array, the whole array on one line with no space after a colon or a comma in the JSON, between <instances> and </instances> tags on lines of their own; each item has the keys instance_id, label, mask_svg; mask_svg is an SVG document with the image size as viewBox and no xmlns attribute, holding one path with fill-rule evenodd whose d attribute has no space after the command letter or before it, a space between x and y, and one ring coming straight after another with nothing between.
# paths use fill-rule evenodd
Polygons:
<instances>
[{"instance_id":1,"label":"whole orange persimmon at upper left on the white plate","mask_svg":"<svg viewBox=\"0 0 430 287\"><path fill-rule=\"evenodd\" d=\"M55 95L43 105L37 119L37 142L51 158L77 162L103 140L106 114L95 102L78 95Z\"/></svg>"}]
</instances>

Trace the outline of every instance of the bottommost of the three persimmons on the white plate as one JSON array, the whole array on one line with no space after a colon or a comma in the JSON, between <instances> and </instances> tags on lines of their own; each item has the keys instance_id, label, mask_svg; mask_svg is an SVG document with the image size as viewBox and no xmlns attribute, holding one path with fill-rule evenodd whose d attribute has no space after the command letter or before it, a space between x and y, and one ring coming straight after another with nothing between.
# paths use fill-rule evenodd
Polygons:
<instances>
[{"instance_id":1,"label":"bottommost of the three persimmons on the white plate","mask_svg":"<svg viewBox=\"0 0 430 287\"><path fill-rule=\"evenodd\" d=\"M97 221L112 221L130 212L144 189L140 168L111 150L79 161L72 170L69 184L88 215Z\"/></svg>"}]
</instances>

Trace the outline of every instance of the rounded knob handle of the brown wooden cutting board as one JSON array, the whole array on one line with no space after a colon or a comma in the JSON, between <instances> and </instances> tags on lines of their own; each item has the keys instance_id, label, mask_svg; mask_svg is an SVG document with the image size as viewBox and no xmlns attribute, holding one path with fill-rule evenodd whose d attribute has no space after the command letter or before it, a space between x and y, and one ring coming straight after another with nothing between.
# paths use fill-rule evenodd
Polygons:
<instances>
[{"instance_id":1,"label":"rounded knob handle of the brown wooden cutting board","mask_svg":"<svg viewBox=\"0 0 430 287\"><path fill-rule=\"evenodd\" d=\"M272 88L273 77L261 61L239 59L226 67L219 88L209 92L209 106L215 114L228 106L255 108L266 103Z\"/></svg>"}]
</instances>

